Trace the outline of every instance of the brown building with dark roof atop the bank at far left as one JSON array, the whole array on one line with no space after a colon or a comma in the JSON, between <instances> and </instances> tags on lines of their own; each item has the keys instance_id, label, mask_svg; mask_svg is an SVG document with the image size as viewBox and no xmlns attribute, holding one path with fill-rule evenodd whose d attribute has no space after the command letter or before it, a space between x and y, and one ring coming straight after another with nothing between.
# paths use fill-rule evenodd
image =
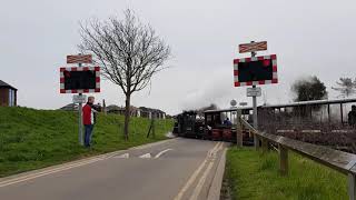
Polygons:
<instances>
[{"instance_id":1,"label":"brown building with dark roof atop the bank at far left","mask_svg":"<svg viewBox=\"0 0 356 200\"><path fill-rule=\"evenodd\" d=\"M0 80L0 107L16 107L18 89Z\"/></svg>"}]
</instances>

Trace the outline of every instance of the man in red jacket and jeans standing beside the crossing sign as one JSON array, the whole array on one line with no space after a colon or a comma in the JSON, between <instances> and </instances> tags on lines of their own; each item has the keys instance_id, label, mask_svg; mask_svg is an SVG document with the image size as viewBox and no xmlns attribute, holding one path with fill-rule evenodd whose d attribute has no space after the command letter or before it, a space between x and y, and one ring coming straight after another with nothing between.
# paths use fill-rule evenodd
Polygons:
<instances>
[{"instance_id":1,"label":"man in red jacket and jeans standing beside the crossing sign","mask_svg":"<svg viewBox=\"0 0 356 200\"><path fill-rule=\"evenodd\" d=\"M87 104L82 108L82 123L85 124L85 147L89 148L91 142L91 133L96 122L96 110L93 109L95 98L89 97Z\"/></svg>"}]
</instances>

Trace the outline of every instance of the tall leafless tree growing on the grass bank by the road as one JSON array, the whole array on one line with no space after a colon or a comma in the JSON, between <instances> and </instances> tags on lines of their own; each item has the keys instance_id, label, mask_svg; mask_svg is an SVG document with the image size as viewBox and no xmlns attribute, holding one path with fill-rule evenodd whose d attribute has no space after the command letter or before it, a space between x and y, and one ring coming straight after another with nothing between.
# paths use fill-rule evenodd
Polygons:
<instances>
[{"instance_id":1,"label":"tall leafless tree growing on the grass bank by the road","mask_svg":"<svg viewBox=\"0 0 356 200\"><path fill-rule=\"evenodd\" d=\"M92 53L95 62L101 66L102 76L119 86L126 96L123 133L128 140L131 94L145 89L151 77L165 69L170 48L129 9L123 20L92 19L81 23L80 34L80 51Z\"/></svg>"}]
</instances>

